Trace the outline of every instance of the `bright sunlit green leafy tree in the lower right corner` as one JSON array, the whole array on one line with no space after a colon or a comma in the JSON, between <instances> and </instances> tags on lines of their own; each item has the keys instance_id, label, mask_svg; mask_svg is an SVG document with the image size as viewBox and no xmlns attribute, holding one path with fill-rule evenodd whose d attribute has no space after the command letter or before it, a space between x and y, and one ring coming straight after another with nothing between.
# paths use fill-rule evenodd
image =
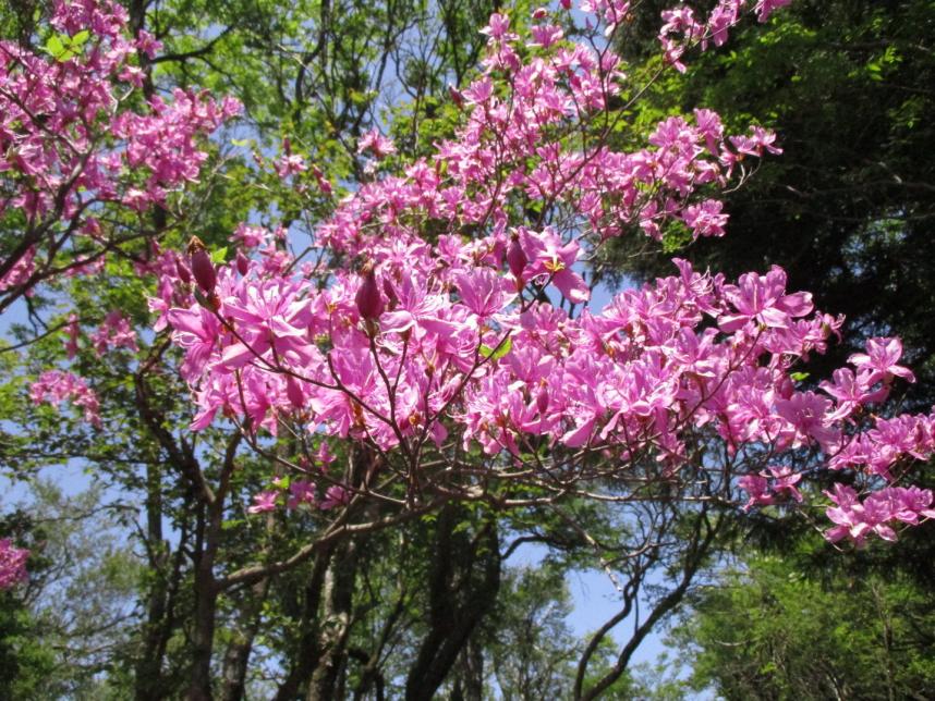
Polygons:
<instances>
[{"instance_id":1,"label":"bright sunlit green leafy tree in the lower right corner","mask_svg":"<svg viewBox=\"0 0 935 701\"><path fill-rule=\"evenodd\" d=\"M725 699L928 698L927 582L867 558L841 568L825 557L822 575L810 548L824 550L811 539L796 554L748 557L700 592L675 632L691 687Z\"/></svg>"}]
</instances>

